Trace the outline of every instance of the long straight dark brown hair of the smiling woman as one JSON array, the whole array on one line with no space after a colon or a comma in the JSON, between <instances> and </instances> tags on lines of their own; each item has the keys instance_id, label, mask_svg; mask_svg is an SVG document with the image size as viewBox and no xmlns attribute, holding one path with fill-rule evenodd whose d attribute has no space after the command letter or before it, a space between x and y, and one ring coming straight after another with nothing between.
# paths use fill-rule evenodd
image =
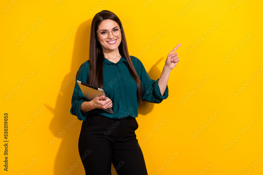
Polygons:
<instances>
[{"instance_id":1,"label":"long straight dark brown hair of the smiling woman","mask_svg":"<svg viewBox=\"0 0 263 175\"><path fill-rule=\"evenodd\" d=\"M122 35L122 41L119 45L119 53L121 56L123 56L128 65L128 70L130 72L130 75L133 77L137 84L137 103L138 107L141 106L142 103L142 85L140 78L133 66L133 63L131 61L127 42L124 34L124 29L122 26L122 22L120 19L115 15L113 12L109 10L102 10L101 12L95 14L93 17L92 23L91 23L91 30L90 30L90 47L89 47L89 80L88 84L91 84L92 86L99 87L103 89L103 76L102 76L102 70L103 70L103 61L104 61L104 54L102 52L102 46L100 45L99 41L96 40L96 31L98 30L98 26L100 23L106 19L111 19L118 23L121 30Z\"/></svg>"}]
</instances>

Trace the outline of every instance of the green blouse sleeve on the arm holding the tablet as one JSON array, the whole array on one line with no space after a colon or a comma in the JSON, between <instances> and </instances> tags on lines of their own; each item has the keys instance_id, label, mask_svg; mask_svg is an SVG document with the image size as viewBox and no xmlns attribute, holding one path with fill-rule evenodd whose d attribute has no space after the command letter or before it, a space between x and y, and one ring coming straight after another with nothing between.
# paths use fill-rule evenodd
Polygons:
<instances>
[{"instance_id":1,"label":"green blouse sleeve on the arm holding the tablet","mask_svg":"<svg viewBox=\"0 0 263 175\"><path fill-rule=\"evenodd\" d=\"M75 82L75 87L71 99L71 108L70 108L70 113L72 115L77 116L79 120L86 120L87 115L90 113L88 112L81 112L80 110L80 105L83 102L87 102L88 100L85 99L77 80L82 81L84 83L88 82L88 72L89 72L89 64L87 62L83 63L79 70L77 71L76 75L76 82Z\"/></svg>"}]
</instances>

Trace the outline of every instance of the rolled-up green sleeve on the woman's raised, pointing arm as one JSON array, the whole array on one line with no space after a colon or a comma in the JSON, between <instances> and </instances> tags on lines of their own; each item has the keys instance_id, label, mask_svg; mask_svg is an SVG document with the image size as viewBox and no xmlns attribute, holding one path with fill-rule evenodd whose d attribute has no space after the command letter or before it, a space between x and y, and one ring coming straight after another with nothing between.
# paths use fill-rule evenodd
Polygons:
<instances>
[{"instance_id":1,"label":"rolled-up green sleeve on the woman's raised, pointing arm","mask_svg":"<svg viewBox=\"0 0 263 175\"><path fill-rule=\"evenodd\" d=\"M143 86L142 100L150 103L161 103L168 97L168 85L166 85L164 94L161 95L160 87L158 84L159 78L156 81L151 79L146 72L142 62L140 60L139 62L141 69L140 79Z\"/></svg>"}]
</instances>

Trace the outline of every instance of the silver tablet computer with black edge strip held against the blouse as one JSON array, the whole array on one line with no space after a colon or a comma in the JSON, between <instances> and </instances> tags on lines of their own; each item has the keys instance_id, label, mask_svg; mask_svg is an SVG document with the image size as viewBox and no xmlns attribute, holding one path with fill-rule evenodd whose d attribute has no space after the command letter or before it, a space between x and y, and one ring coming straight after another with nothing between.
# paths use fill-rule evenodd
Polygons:
<instances>
[{"instance_id":1,"label":"silver tablet computer with black edge strip held against the blouse","mask_svg":"<svg viewBox=\"0 0 263 175\"><path fill-rule=\"evenodd\" d=\"M107 100L107 97L103 91L103 89L100 89L98 87L92 86L90 84L78 81L79 87L84 95L84 97L88 100L91 101L93 100L95 97L98 96L104 96L103 100ZM110 114L113 114L112 108L108 108L108 109L102 109Z\"/></svg>"}]
</instances>

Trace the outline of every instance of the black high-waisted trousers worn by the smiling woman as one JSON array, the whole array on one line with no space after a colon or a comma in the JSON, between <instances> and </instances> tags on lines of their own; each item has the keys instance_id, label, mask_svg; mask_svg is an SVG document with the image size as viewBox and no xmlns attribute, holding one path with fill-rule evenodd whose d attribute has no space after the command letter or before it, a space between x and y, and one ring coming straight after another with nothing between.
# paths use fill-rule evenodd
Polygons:
<instances>
[{"instance_id":1,"label":"black high-waisted trousers worn by the smiling woman","mask_svg":"<svg viewBox=\"0 0 263 175\"><path fill-rule=\"evenodd\" d=\"M111 119L88 115L79 135L79 155L86 175L148 175L143 153L136 139L138 123L133 117Z\"/></svg>"}]
</instances>

